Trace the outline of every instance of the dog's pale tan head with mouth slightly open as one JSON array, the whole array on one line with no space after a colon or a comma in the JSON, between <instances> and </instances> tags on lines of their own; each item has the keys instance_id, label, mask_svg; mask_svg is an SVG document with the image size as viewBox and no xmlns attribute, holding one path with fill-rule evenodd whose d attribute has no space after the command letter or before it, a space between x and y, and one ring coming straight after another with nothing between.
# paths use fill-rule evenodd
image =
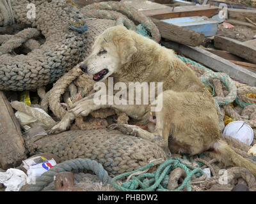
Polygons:
<instances>
[{"instance_id":1,"label":"dog's pale tan head with mouth slightly open","mask_svg":"<svg viewBox=\"0 0 256 204\"><path fill-rule=\"evenodd\" d=\"M92 54L81 63L80 68L99 82L113 73L118 73L125 63L137 52L130 31L117 25L106 29L95 39Z\"/></svg>"}]
</instances>

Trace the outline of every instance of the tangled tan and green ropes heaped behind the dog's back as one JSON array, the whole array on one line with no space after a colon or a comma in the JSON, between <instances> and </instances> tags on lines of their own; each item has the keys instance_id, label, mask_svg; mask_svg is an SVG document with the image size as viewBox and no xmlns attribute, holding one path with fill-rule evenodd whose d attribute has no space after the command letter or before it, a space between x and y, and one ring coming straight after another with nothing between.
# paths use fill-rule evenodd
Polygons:
<instances>
[{"instance_id":1,"label":"tangled tan and green ropes heaped behind the dog's back","mask_svg":"<svg viewBox=\"0 0 256 204\"><path fill-rule=\"evenodd\" d=\"M248 124L256 137L256 87L250 87L232 80L225 73L215 73L186 57L177 55L195 71L202 82L212 92L220 119L220 132L229 122L242 120ZM252 145L256 143L253 140Z\"/></svg>"}]
</instances>

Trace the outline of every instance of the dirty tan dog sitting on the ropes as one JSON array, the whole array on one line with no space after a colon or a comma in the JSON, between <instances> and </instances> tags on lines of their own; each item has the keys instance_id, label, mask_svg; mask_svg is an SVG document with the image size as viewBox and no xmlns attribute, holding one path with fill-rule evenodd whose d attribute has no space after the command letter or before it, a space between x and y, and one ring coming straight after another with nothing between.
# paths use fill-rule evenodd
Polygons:
<instances>
[{"instance_id":1,"label":"dirty tan dog sitting on the ropes","mask_svg":"<svg viewBox=\"0 0 256 204\"><path fill-rule=\"evenodd\" d=\"M104 82L106 87L109 77L113 77L114 83L127 85L129 82L163 82L163 92L156 96L156 101L161 96L163 108L154 113L153 133L129 124L113 124L109 129L156 142L166 152L195 155L207 151L227 166L241 166L256 175L256 165L220 139L218 113L211 93L173 50L117 25L95 39L92 53L79 66L93 75L95 82ZM86 117L100 108L114 108L145 123L151 106L151 103L95 105L92 95L74 103L50 133L65 131L75 116Z\"/></svg>"}]
</instances>

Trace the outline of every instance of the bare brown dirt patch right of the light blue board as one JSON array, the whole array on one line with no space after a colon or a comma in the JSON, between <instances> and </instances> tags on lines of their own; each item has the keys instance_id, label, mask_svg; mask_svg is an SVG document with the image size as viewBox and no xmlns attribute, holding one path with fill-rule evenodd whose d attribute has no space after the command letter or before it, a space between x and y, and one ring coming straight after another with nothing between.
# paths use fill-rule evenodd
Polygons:
<instances>
[{"instance_id":1,"label":"bare brown dirt patch right of the light blue board","mask_svg":"<svg viewBox=\"0 0 256 204\"><path fill-rule=\"evenodd\" d=\"M256 29L250 29L246 26L234 25L234 28L227 29L223 25L218 25L218 32L216 35L225 36L239 41L253 40L256 35Z\"/></svg>"}]
</instances>

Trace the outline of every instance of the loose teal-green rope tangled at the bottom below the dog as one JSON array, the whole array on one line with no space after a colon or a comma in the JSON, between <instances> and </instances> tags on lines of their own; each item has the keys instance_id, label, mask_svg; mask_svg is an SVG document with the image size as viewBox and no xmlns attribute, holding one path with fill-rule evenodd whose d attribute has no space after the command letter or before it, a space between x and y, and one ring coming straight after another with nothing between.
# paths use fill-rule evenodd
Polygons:
<instances>
[{"instance_id":1,"label":"loose teal-green rope tangled at the bottom below the dog","mask_svg":"<svg viewBox=\"0 0 256 204\"><path fill-rule=\"evenodd\" d=\"M185 187L187 191L191 191L191 177L196 173L199 173L199 175L204 175L204 172L200 168L193 168L188 164L182 163L177 157L170 157L168 160L164 161L164 163L162 163L153 173L142 173L138 175L138 177L132 176L131 180L124 182L122 186L116 184L117 180L124 177L129 177L129 175L132 175L138 171L145 171L152 166L156 166L156 164L156 162L152 162L139 168L138 170L122 173L111 180L111 185L119 191L170 191L166 189L169 180L168 174L175 168L180 167L185 170L187 176L184 179L184 182L182 182L182 185L172 191L180 191ZM151 179L148 180L147 178Z\"/></svg>"}]
</instances>

